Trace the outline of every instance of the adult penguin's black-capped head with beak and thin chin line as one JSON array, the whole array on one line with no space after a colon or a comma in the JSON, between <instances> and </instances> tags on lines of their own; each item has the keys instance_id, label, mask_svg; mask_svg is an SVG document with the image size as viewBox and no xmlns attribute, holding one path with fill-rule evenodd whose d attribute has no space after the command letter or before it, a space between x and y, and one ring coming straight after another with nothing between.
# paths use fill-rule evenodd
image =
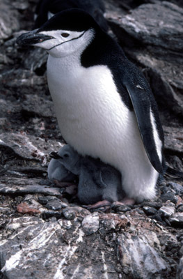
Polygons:
<instances>
[{"instance_id":1,"label":"adult penguin's black-capped head with beak and thin chin line","mask_svg":"<svg viewBox=\"0 0 183 279\"><path fill-rule=\"evenodd\" d=\"M42 47L56 57L82 52L102 31L93 17L80 9L64 10L51 17L39 29L23 33L17 38L18 45Z\"/></svg>"}]
</instances>

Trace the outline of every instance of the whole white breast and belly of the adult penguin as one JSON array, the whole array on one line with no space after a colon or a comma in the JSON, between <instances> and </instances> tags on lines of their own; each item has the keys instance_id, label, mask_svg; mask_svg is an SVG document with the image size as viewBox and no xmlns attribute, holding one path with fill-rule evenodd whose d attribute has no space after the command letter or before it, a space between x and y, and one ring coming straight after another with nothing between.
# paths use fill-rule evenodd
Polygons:
<instances>
[{"instance_id":1,"label":"whole white breast and belly of the adult penguin","mask_svg":"<svg viewBox=\"0 0 183 279\"><path fill-rule=\"evenodd\" d=\"M66 142L119 169L126 192L137 191L132 197L142 196L151 177L153 196L158 174L145 153L134 112L122 102L109 68L83 68L74 56L49 55L47 78Z\"/></svg>"}]
</instances>

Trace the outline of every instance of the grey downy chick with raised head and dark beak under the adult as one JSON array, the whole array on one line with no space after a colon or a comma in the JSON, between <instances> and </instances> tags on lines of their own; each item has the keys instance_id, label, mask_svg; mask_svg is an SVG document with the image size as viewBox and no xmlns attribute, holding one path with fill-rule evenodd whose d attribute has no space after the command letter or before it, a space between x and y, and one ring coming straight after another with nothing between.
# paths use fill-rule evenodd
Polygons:
<instances>
[{"instance_id":1,"label":"grey downy chick with raised head and dark beak under the adult","mask_svg":"<svg viewBox=\"0 0 183 279\"><path fill-rule=\"evenodd\" d=\"M122 200L124 197L121 187L121 174L114 167L102 163L99 159L79 156L77 151L74 151L69 144L59 149L54 156L55 158L57 156L54 163L57 161L60 164L57 165L56 170L57 174L60 174L61 181L65 181L63 167L69 174L79 176L77 196L82 204L91 204L95 207L97 202L100 202L100 206L102 206L107 201L109 205L112 202ZM48 167L49 176L54 175L52 162L49 163Z\"/></svg>"}]
</instances>

